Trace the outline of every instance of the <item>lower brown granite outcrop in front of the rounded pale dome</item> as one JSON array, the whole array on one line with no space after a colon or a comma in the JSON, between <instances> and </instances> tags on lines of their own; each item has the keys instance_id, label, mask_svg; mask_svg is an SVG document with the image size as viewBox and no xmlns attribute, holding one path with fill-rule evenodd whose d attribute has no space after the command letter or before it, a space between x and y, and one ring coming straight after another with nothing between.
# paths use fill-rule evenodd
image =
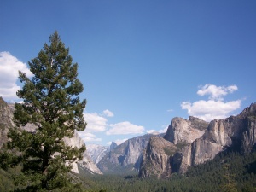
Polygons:
<instances>
[{"instance_id":1,"label":"lower brown granite outcrop in front of the rounded pale dome","mask_svg":"<svg viewBox=\"0 0 256 192\"><path fill-rule=\"evenodd\" d=\"M173 143L162 137L151 137L143 151L139 177L170 177L171 159L176 152L177 147Z\"/></svg>"}]
</instances>

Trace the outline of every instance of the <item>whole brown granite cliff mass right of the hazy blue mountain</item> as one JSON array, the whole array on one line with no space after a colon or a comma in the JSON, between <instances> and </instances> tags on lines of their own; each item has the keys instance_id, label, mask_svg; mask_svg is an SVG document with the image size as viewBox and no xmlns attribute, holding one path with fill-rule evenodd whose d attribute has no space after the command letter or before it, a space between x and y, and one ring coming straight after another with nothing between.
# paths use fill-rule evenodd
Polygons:
<instances>
[{"instance_id":1,"label":"whole brown granite cliff mass right of the hazy blue mountain","mask_svg":"<svg viewBox=\"0 0 256 192\"><path fill-rule=\"evenodd\" d=\"M174 118L164 138L150 139L143 152L139 177L170 177L189 166L212 160L224 150L249 153L256 143L256 103L239 115L207 123L195 117ZM172 153L166 153L166 150Z\"/></svg>"}]
</instances>

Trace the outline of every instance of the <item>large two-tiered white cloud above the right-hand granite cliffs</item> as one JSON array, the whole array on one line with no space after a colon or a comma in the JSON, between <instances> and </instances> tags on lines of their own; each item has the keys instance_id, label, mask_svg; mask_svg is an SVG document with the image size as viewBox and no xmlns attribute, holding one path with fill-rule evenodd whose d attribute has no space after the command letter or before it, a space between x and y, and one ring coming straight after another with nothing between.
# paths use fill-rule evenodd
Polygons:
<instances>
[{"instance_id":1,"label":"large two-tiered white cloud above the right-hand granite cliffs","mask_svg":"<svg viewBox=\"0 0 256 192\"><path fill-rule=\"evenodd\" d=\"M182 102L181 108L187 109L189 115L206 121L224 119L241 106L241 100L224 102L224 96L235 90L238 90L236 85L217 87L214 84L206 84L197 91L197 94L200 96L210 95L208 101Z\"/></svg>"}]
</instances>

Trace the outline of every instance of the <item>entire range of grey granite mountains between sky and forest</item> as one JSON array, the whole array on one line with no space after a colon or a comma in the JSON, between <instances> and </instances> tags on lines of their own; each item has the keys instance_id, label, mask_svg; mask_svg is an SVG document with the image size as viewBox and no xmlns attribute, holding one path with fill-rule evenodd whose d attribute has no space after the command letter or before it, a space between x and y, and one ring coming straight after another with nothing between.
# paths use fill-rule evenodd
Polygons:
<instances>
[{"instance_id":1,"label":"entire range of grey granite mountains between sky and forest","mask_svg":"<svg viewBox=\"0 0 256 192\"><path fill-rule=\"evenodd\" d=\"M7 141L9 127L13 126L14 105L0 97L0 148ZM24 129L33 130L32 125ZM70 146L80 147L84 142L75 132L65 138ZM165 134L133 137L109 147L87 145L83 160L73 164L73 172L79 167L91 174L136 173L139 177L171 177L172 173L187 172L195 166L212 160L223 151L247 154L256 143L256 103L240 114L226 119L206 122L202 119L173 118Z\"/></svg>"}]
</instances>

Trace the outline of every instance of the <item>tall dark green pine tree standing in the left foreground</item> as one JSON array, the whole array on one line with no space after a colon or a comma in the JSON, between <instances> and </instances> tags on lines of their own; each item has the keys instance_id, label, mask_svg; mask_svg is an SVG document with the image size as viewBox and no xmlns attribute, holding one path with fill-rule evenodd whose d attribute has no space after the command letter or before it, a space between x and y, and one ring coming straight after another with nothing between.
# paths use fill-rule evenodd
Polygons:
<instances>
[{"instance_id":1,"label":"tall dark green pine tree standing in the left foreground","mask_svg":"<svg viewBox=\"0 0 256 192\"><path fill-rule=\"evenodd\" d=\"M71 163L81 160L85 150L85 146L72 148L63 141L64 137L73 137L74 131L84 131L86 126L86 101L79 100L84 88L78 79L78 64L73 63L58 32L49 37L49 42L28 62L32 79L19 72L24 86L17 96L24 103L15 104L16 127L9 131L8 147L15 148L16 160L22 166L15 182L25 191L66 189L71 184L67 176ZM36 128L19 128L27 124Z\"/></svg>"}]
</instances>

